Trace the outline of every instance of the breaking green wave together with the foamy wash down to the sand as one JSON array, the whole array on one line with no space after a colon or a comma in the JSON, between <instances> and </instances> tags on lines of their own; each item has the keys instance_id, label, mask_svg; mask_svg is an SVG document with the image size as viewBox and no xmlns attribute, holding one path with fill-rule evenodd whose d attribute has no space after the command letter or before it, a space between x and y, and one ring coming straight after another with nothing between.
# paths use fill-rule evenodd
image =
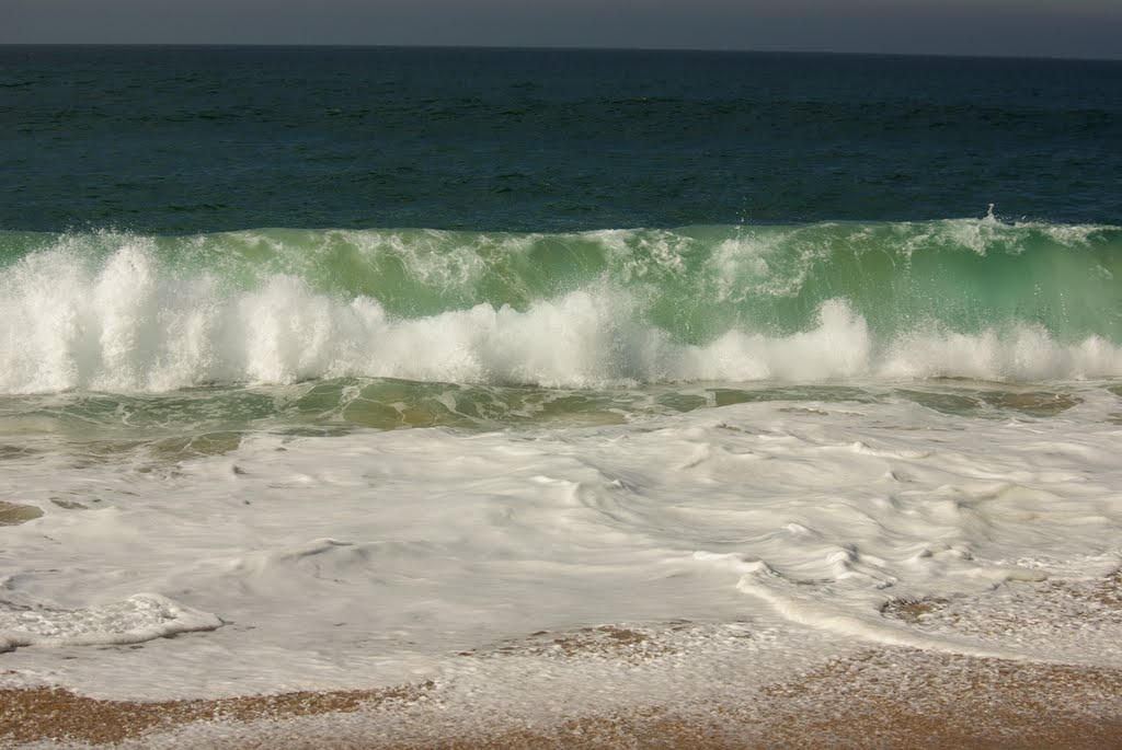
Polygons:
<instances>
[{"instance_id":1,"label":"breaking green wave together with the foamy wash down to the sand","mask_svg":"<svg viewBox=\"0 0 1122 750\"><path fill-rule=\"evenodd\" d=\"M4 685L532 719L872 647L1122 667L1109 608L1056 630L1122 566L1120 242L6 232Z\"/></svg>"}]
</instances>

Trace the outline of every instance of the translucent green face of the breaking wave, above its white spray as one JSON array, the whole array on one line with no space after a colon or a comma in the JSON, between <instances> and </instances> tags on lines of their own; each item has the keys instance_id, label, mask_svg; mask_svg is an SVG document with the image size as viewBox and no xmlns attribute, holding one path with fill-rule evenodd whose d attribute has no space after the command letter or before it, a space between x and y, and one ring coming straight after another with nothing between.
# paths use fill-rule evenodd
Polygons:
<instances>
[{"instance_id":1,"label":"translucent green face of the breaking wave, above its white spray","mask_svg":"<svg viewBox=\"0 0 1122 750\"><path fill-rule=\"evenodd\" d=\"M690 226L573 234L436 230L254 230L194 237L4 233L9 268L29 254L107 262L154 253L162 272L212 275L237 289L298 279L387 314L432 316L480 304L527 309L577 289L626 294L635 313L688 343L734 326L811 327L845 299L879 335L918 325L976 333L1042 326L1061 340L1122 341L1122 229L991 220L804 226Z\"/></svg>"}]
</instances>

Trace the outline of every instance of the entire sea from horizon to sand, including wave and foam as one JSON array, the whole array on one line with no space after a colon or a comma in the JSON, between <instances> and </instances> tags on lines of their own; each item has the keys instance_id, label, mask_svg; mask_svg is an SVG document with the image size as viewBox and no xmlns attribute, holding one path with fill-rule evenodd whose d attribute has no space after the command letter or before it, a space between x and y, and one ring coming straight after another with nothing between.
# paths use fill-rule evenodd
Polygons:
<instances>
[{"instance_id":1,"label":"entire sea from horizon to sand, including wave and foam","mask_svg":"<svg viewBox=\"0 0 1122 750\"><path fill-rule=\"evenodd\" d=\"M0 686L1122 667L1119 143L1118 62L2 47Z\"/></svg>"}]
</instances>

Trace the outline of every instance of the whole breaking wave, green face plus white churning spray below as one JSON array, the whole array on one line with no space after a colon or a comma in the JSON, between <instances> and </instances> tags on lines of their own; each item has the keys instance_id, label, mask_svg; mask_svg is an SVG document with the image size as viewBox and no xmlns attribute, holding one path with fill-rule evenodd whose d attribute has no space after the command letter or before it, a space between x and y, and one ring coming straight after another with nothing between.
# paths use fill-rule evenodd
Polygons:
<instances>
[{"instance_id":1,"label":"whole breaking wave, green face plus white churning spray below","mask_svg":"<svg viewBox=\"0 0 1122 750\"><path fill-rule=\"evenodd\" d=\"M1122 229L0 233L0 392L1116 377Z\"/></svg>"}]
</instances>

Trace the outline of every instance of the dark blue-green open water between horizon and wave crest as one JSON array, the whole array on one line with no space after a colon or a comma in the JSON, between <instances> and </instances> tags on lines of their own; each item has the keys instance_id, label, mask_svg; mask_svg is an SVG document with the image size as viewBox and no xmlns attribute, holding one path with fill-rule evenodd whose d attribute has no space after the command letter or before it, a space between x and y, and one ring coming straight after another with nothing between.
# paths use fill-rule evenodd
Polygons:
<instances>
[{"instance_id":1,"label":"dark blue-green open water between horizon and wave crest","mask_svg":"<svg viewBox=\"0 0 1122 750\"><path fill-rule=\"evenodd\" d=\"M1122 63L0 47L0 229L1122 223Z\"/></svg>"}]
</instances>

